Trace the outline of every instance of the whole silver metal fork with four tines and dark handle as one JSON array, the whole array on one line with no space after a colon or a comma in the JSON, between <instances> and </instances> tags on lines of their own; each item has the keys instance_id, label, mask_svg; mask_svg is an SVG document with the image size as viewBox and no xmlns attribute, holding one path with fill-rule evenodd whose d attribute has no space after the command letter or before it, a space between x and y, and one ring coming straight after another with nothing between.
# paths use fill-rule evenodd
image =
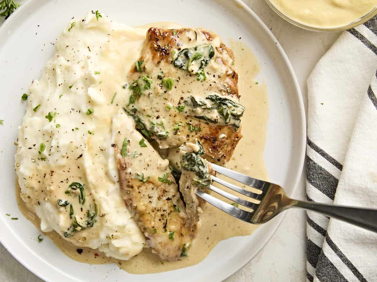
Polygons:
<instances>
[{"instance_id":1,"label":"whole silver metal fork with four tines and dark handle","mask_svg":"<svg viewBox=\"0 0 377 282\"><path fill-rule=\"evenodd\" d=\"M240 199L239 197L229 194L213 185L210 185L209 187L212 191L224 196L225 198L253 210L245 211L244 209L238 208L237 205L225 203L211 196L210 194L204 193L201 190L196 191L196 195L208 203L240 220L253 224L261 224L269 221L271 218L275 217L277 214L286 209L303 208L377 232L377 209L327 205L290 199L285 194L284 189L277 184L255 179L219 165L211 165L216 172L228 176L231 179L237 180L245 185L256 188L259 192L253 193L219 179L216 176L212 176L213 181L251 198L253 202Z\"/></svg>"}]
</instances>

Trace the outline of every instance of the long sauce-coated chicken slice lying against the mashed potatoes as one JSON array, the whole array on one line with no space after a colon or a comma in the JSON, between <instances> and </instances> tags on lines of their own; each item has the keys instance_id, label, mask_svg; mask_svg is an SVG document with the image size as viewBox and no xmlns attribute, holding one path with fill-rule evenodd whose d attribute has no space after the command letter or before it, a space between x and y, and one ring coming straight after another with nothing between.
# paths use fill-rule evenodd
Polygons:
<instances>
[{"instance_id":1,"label":"long sauce-coated chicken slice lying against the mashed potatoes","mask_svg":"<svg viewBox=\"0 0 377 282\"><path fill-rule=\"evenodd\" d=\"M161 259L178 260L195 237L196 225L185 224L185 206L169 161L158 155L126 113L113 118L112 132L127 208L152 252Z\"/></svg>"}]
</instances>

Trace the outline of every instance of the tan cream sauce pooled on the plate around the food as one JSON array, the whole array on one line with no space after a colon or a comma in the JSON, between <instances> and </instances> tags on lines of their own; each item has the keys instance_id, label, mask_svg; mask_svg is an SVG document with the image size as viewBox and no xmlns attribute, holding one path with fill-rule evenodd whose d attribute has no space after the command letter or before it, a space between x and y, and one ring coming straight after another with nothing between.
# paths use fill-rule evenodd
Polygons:
<instances>
[{"instance_id":1,"label":"tan cream sauce pooled on the plate around the food","mask_svg":"<svg viewBox=\"0 0 377 282\"><path fill-rule=\"evenodd\" d=\"M178 28L173 23L153 23L144 27L167 27ZM116 36L116 35L114 35ZM118 35L121 36L121 35ZM239 93L241 104L246 111L242 118L242 135L234 151L228 167L241 173L259 178L268 179L264 165L264 146L266 138L266 127L268 120L268 96L267 86L264 83L254 81L260 71L260 65L253 52L239 41L232 41L229 47L234 52L235 62L239 74ZM255 133L258 134L255 134ZM248 162L245 162L245 159ZM222 187L224 188L224 187ZM229 191L232 193L231 191ZM16 183L16 197L18 207L22 214L30 220L35 227L40 229L40 219L28 209L20 197L20 187ZM221 196L220 199L225 200ZM229 202L228 200L226 200ZM189 256L180 261L161 261L150 249L143 249L141 253L128 261L113 259L105 256L97 249L88 247L77 247L69 241L64 240L57 232L42 232L45 236L54 241L55 245L70 258L89 264L107 264L115 262L123 270L133 274L158 273L178 268L188 267L201 262L221 240L234 236L250 235L257 226L237 220L230 215L207 204L204 213L199 221L199 232L193 241ZM82 249L78 253L78 249Z\"/></svg>"}]
</instances>

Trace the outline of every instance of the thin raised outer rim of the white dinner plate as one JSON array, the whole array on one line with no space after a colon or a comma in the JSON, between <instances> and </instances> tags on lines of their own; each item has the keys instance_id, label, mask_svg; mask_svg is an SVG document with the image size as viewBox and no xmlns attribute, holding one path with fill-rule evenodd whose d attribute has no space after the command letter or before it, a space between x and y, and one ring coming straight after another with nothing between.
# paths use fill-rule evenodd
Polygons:
<instances>
[{"instance_id":1,"label":"thin raised outer rim of the white dinner plate","mask_svg":"<svg viewBox=\"0 0 377 282\"><path fill-rule=\"evenodd\" d=\"M234 16L234 13L232 11L230 11L229 9L226 9L223 5L219 4L219 0L210 0L210 1L216 3L219 6L221 6L222 9L224 9L225 11L229 12L232 16ZM27 0L17 10L15 10L15 12L12 13L12 15L0 26L0 33L5 32L5 30L7 29L8 25L11 24L11 20L13 20L14 18L18 18L18 15L21 14L22 12L24 12L24 10L27 10L28 8L30 8L30 6L32 5L33 2L34 2L34 0ZM238 8L238 9L241 8L247 14L249 14L251 17L253 17L254 20L256 20L260 24L260 26L263 28L265 34L267 34L268 37L270 37L271 40L273 40L274 42L276 42L277 52L282 57L285 65L287 66L287 69L289 71L290 77L291 77L292 82L293 82L292 84L294 86L294 91L292 91L292 92L294 92L294 93L292 93L292 95L296 96L294 98L298 102L297 111L298 111L298 114L299 114L299 116L301 118L301 120L300 120L300 131L303 132L303 134L301 136L301 140L299 140L299 144L298 144L298 146L301 147L300 148L300 152L298 154L300 162L297 165L298 172L297 172L297 175L296 175L296 177L294 178L294 181L293 181L294 185L293 185L293 190L291 192L291 194L293 195L297 191L297 187L299 186L299 182L300 182L300 179L301 179L301 176L302 176L303 165L304 165L304 161L305 161L306 139L307 139L306 114L305 114L305 108L304 108L304 104L303 104L303 97L302 97L300 85L298 83L296 74L294 73L294 69L293 69L293 67L292 67L292 65L290 63L290 60L288 59L287 54L285 53L284 49L282 48L282 46L280 45L280 43L276 39L276 37L273 35L273 33L271 32L271 30L264 23L264 21L262 21L261 18L259 18L259 16L249 6L247 6L242 0L233 0L232 2L233 2L232 5L235 8ZM274 224L274 227L272 228L272 232L270 232L270 235L267 236L267 237L265 237L265 240L263 240L262 244L259 244L259 250L257 250L257 252L255 252L255 255L254 256L247 256L244 259L242 259L238 264L231 265L229 268L227 268L227 270L224 270L221 279L227 279L232 274L236 273L236 271L238 271L242 267L244 267L257 254L259 254L261 252L261 250L265 247L265 245L268 243L268 241L270 241L270 239L276 233L277 229L280 227L280 224L284 220L285 215L286 215L286 213L284 212L282 215L280 215L279 218L275 219L275 221L278 221L278 222L276 224ZM23 258L20 255L17 255L15 253L15 251L12 249L11 242L10 241L6 242L6 237L2 238L2 236L0 236L0 243L5 247L5 249L21 265L23 265L25 268L27 268L29 271L31 271L33 274L35 274L37 277L39 277L40 279L43 279L45 281L52 281L52 280L48 280L47 277L45 277L44 273L41 273L40 271L38 271L38 269L36 269L34 265L31 265L29 262L26 262L25 260L23 260ZM32 250L30 250L30 252L33 253L33 255L37 256L36 254L34 254L34 252L32 252ZM43 258L40 258L39 256L37 256L37 257L41 261L44 261Z\"/></svg>"}]
</instances>

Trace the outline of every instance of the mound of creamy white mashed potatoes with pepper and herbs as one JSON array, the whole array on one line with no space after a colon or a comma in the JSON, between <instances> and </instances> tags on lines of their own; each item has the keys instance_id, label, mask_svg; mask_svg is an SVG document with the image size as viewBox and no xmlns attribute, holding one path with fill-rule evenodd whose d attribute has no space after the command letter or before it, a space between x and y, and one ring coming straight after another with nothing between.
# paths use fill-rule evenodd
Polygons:
<instances>
[{"instance_id":1,"label":"mound of creamy white mashed potatoes with pepper and herbs","mask_svg":"<svg viewBox=\"0 0 377 282\"><path fill-rule=\"evenodd\" d=\"M29 88L15 155L21 197L41 230L118 259L145 245L121 199L111 142L145 34L94 12L72 19Z\"/></svg>"}]
</instances>

